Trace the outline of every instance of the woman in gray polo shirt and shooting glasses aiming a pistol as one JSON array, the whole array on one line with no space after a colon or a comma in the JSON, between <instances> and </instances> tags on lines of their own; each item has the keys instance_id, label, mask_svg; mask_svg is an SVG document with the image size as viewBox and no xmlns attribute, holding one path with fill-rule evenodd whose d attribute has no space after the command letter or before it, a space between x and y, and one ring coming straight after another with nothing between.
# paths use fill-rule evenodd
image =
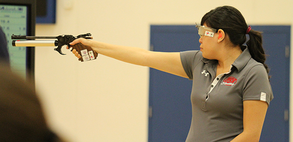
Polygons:
<instances>
[{"instance_id":1,"label":"woman in gray polo shirt and shooting glasses aiming a pistol","mask_svg":"<svg viewBox=\"0 0 293 142\"><path fill-rule=\"evenodd\" d=\"M231 6L211 10L196 27L200 51L153 52L83 38L70 45L82 43L99 54L192 79L186 142L258 142L273 98L261 33ZM73 54L80 58L75 49Z\"/></svg>"}]
</instances>

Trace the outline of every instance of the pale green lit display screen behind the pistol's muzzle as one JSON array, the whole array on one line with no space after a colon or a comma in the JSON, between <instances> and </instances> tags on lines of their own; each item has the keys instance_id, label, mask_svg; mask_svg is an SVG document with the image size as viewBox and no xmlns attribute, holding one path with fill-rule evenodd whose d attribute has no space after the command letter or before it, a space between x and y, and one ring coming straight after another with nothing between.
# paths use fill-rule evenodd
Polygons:
<instances>
[{"instance_id":1,"label":"pale green lit display screen behind the pistol's muzzle","mask_svg":"<svg viewBox=\"0 0 293 142\"><path fill-rule=\"evenodd\" d=\"M0 26L7 39L11 70L26 77L26 47L13 47L11 35L27 35L27 7L0 4Z\"/></svg>"}]
</instances>

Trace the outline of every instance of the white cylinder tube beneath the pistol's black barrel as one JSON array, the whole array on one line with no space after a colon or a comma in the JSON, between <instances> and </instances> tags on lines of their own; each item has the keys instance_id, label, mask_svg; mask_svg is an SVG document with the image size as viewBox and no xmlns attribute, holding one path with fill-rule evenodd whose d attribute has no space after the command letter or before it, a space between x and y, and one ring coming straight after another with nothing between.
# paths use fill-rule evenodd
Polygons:
<instances>
[{"instance_id":1,"label":"white cylinder tube beneath the pistol's black barrel","mask_svg":"<svg viewBox=\"0 0 293 142\"><path fill-rule=\"evenodd\" d=\"M56 47L58 46L58 41L53 41L53 40L12 41L12 46L14 47Z\"/></svg>"}]
</instances>

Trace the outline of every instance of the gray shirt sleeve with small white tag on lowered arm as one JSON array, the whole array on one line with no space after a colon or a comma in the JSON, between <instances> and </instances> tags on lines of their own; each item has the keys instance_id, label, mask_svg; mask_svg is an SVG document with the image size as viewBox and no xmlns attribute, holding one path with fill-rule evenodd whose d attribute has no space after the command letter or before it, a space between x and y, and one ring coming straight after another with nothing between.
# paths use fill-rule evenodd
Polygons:
<instances>
[{"instance_id":1,"label":"gray shirt sleeve with small white tag on lowered arm","mask_svg":"<svg viewBox=\"0 0 293 142\"><path fill-rule=\"evenodd\" d=\"M268 73L263 65L256 65L246 74L243 100L261 100L268 103L273 99Z\"/></svg>"}]
</instances>

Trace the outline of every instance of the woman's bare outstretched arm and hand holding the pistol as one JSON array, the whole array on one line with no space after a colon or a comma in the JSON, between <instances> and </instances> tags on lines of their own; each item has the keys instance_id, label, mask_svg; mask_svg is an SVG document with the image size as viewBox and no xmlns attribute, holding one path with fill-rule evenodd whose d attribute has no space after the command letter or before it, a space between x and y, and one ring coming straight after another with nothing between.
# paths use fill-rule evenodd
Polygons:
<instances>
[{"instance_id":1,"label":"woman's bare outstretched arm and hand holding the pistol","mask_svg":"<svg viewBox=\"0 0 293 142\"><path fill-rule=\"evenodd\" d=\"M70 45L75 45L77 43L90 46L99 54L115 58L123 62L146 66L188 78L181 64L179 52L154 52L138 47L117 46L97 41L90 41L83 38L74 40L70 43ZM79 53L77 53L74 49L73 54L75 54L77 58L80 58Z\"/></svg>"}]
</instances>

